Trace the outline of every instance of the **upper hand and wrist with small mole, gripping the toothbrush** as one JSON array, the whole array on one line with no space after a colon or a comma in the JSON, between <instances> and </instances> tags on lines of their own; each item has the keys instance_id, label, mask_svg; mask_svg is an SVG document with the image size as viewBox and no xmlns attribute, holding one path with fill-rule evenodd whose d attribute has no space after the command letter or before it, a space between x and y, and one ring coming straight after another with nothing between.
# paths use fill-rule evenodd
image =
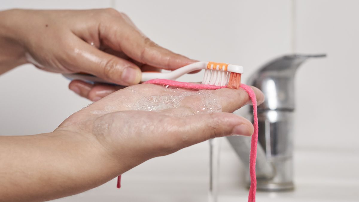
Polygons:
<instances>
[{"instance_id":1,"label":"upper hand and wrist with small mole, gripping the toothbrush","mask_svg":"<svg viewBox=\"0 0 359 202\"><path fill-rule=\"evenodd\" d=\"M158 46L114 9L8 10L0 12L0 22L0 73L32 63L130 86L140 82L141 70L173 70L194 62Z\"/></svg>"}]
</instances>

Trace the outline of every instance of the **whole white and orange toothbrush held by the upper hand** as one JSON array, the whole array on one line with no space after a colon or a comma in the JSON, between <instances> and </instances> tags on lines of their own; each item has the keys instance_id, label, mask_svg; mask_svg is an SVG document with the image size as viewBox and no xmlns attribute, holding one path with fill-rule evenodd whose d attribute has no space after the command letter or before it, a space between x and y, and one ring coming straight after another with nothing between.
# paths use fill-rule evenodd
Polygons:
<instances>
[{"instance_id":1,"label":"whole white and orange toothbrush held by the upper hand","mask_svg":"<svg viewBox=\"0 0 359 202\"><path fill-rule=\"evenodd\" d=\"M239 86L241 85L241 75L243 73L242 66L204 61L192 63L168 73L143 72L141 82L150 81L152 79L176 80L184 74L200 69L205 69L202 84L209 84L220 87L227 86L228 88L239 88ZM91 83L109 83L101 78L95 77L90 74L76 73L63 75L71 80L79 79Z\"/></svg>"}]
</instances>

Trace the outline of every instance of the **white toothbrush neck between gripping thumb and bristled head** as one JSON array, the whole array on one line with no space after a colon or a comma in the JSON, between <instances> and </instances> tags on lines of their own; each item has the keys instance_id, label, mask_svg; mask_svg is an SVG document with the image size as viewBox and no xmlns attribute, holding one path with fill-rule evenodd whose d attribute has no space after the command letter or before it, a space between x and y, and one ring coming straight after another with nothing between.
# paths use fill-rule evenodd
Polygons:
<instances>
[{"instance_id":1,"label":"white toothbrush neck between gripping thumb and bristled head","mask_svg":"<svg viewBox=\"0 0 359 202\"><path fill-rule=\"evenodd\" d=\"M206 69L207 68L207 62L196 62L192 63L186 66L183 66L181 68L178 68L176 70L173 70L168 73L160 73L160 72L143 72L142 73L142 82L149 81L152 79L170 79L175 80L178 77L182 76L183 74L187 74L190 72L193 72L195 70L199 69Z\"/></svg>"}]
</instances>

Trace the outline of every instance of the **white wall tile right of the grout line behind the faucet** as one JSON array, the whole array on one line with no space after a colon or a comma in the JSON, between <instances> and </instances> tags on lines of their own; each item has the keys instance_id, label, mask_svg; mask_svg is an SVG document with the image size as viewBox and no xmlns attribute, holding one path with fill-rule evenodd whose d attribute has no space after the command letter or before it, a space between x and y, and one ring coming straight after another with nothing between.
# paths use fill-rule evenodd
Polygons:
<instances>
[{"instance_id":1,"label":"white wall tile right of the grout line behind the faucet","mask_svg":"<svg viewBox=\"0 0 359 202\"><path fill-rule=\"evenodd\" d=\"M358 152L359 1L300 0L296 7L296 51L328 54L298 71L296 145Z\"/></svg>"}]
</instances>

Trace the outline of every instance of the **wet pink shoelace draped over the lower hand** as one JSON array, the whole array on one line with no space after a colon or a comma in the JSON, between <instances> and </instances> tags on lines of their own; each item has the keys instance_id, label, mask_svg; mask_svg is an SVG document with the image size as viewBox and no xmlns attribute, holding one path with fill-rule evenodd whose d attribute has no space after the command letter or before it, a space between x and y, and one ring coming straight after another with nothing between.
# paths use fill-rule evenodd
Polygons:
<instances>
[{"instance_id":1,"label":"wet pink shoelace draped over the lower hand","mask_svg":"<svg viewBox=\"0 0 359 202\"><path fill-rule=\"evenodd\" d=\"M144 83L148 84L160 84L164 86L171 86L171 87L179 87L179 88L187 88L187 89L207 89L207 90L215 90L219 88L226 88L227 86L212 86L212 85L204 85L204 84L197 84L197 83L187 83L187 82L178 82L172 81L167 79L153 79ZM254 93L253 89L245 84L241 84L241 88L248 93L253 105L253 126L254 132L252 135L251 141L251 154L250 154L250 176L251 176L251 186L249 189L248 194L248 202L255 202L256 201L256 190L257 190L257 179L256 179L256 158L257 158L257 141L258 141L258 115L257 115L257 99L256 94ZM118 176L117 179L117 188L121 187L121 175Z\"/></svg>"}]
</instances>

